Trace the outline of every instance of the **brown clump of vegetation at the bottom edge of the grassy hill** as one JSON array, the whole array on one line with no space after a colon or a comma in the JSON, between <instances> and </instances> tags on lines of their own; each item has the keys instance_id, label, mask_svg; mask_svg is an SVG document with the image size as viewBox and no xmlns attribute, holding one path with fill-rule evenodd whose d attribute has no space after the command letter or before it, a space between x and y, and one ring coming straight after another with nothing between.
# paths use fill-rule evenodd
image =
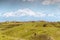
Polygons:
<instances>
[{"instance_id":1,"label":"brown clump of vegetation at the bottom edge of the grassy hill","mask_svg":"<svg viewBox=\"0 0 60 40\"><path fill-rule=\"evenodd\" d=\"M29 40L53 40L50 36L46 34L34 34Z\"/></svg>"}]
</instances>

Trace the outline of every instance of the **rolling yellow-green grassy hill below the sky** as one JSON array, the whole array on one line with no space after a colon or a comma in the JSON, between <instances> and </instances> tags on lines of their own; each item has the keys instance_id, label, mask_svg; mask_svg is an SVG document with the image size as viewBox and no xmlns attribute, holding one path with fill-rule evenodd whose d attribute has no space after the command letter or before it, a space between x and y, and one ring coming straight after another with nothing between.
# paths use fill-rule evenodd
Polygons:
<instances>
[{"instance_id":1,"label":"rolling yellow-green grassy hill below the sky","mask_svg":"<svg viewBox=\"0 0 60 40\"><path fill-rule=\"evenodd\" d=\"M60 40L60 22L1 22L0 40Z\"/></svg>"}]
</instances>

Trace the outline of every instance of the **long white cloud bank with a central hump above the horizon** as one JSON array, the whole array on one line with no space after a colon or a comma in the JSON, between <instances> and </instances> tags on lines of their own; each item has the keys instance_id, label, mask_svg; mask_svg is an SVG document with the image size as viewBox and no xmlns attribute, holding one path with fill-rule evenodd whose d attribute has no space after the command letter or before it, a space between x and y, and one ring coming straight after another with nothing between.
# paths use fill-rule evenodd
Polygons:
<instances>
[{"instance_id":1,"label":"long white cloud bank with a central hump above the horizon","mask_svg":"<svg viewBox=\"0 0 60 40\"><path fill-rule=\"evenodd\" d=\"M22 16L32 16L32 17L53 17L53 14L45 14L42 12L35 12L31 9L19 9L15 12L6 12L2 14L3 17L22 17Z\"/></svg>"}]
</instances>

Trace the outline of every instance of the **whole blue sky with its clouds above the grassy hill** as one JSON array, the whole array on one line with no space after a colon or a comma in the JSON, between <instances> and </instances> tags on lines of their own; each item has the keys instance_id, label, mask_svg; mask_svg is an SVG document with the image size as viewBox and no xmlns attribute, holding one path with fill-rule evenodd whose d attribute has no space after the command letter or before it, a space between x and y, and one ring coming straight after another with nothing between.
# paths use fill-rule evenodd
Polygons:
<instances>
[{"instance_id":1,"label":"whole blue sky with its clouds above the grassy hill","mask_svg":"<svg viewBox=\"0 0 60 40\"><path fill-rule=\"evenodd\" d=\"M0 0L0 22L60 21L60 0Z\"/></svg>"}]
</instances>

